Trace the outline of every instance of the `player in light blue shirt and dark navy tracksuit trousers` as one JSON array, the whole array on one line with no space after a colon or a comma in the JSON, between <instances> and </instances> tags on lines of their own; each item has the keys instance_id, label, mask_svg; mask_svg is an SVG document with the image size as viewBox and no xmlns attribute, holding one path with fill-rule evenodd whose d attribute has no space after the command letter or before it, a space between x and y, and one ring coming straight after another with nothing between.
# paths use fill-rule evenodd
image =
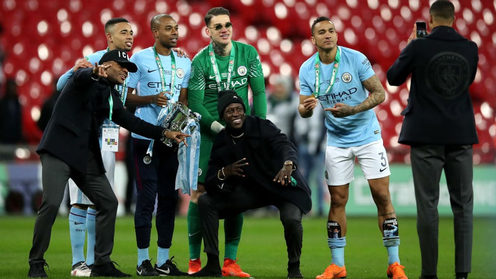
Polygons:
<instances>
[{"instance_id":1,"label":"player in light blue shirt and dark navy tracksuit trousers","mask_svg":"<svg viewBox=\"0 0 496 279\"><path fill-rule=\"evenodd\" d=\"M187 105L191 60L179 57L172 51L177 44L178 25L170 15L154 16L150 27L155 43L131 57L131 61L138 66L138 71L129 75L127 102L141 105L136 109L135 115L156 124L163 106L168 102ZM136 95L131 94L134 89ZM141 97L141 101L138 97ZM178 192L175 190L177 148L156 141L150 154L150 139L134 133L132 137L137 192L134 215L138 246L136 273L139 276L185 276L188 273L178 270L169 259L178 200ZM148 249L156 199L158 254L157 263L153 267Z\"/></svg>"}]
</instances>

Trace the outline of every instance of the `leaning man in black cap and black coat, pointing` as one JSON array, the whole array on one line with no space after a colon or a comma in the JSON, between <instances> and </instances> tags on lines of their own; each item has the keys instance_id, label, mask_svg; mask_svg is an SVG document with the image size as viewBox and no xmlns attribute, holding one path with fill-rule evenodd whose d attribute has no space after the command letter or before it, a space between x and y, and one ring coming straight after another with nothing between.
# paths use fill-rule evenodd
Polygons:
<instances>
[{"instance_id":1,"label":"leaning man in black cap and black coat, pointing","mask_svg":"<svg viewBox=\"0 0 496 279\"><path fill-rule=\"evenodd\" d=\"M181 142L188 135L165 131L126 111L114 85L122 84L128 72L136 72L126 52L105 53L95 68L78 70L55 104L37 152L42 162L43 200L35 222L33 247L29 252L29 277L47 277L43 255L50 242L51 227L72 178L97 208L95 264L91 276L130 277L112 261L117 199L105 176L98 135L108 117L122 127L153 139L165 137Z\"/></svg>"}]
</instances>

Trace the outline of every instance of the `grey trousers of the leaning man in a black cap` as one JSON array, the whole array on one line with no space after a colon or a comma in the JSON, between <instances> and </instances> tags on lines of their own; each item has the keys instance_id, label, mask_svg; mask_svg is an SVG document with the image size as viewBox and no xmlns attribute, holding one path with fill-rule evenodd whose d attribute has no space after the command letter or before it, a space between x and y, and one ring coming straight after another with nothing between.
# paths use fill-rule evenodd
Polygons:
<instances>
[{"instance_id":1,"label":"grey trousers of the leaning man in a black cap","mask_svg":"<svg viewBox=\"0 0 496 279\"><path fill-rule=\"evenodd\" d=\"M101 173L94 154L89 153L85 176L78 174L69 165L51 154L41 154L43 199L36 216L33 247L29 251L29 265L45 262L43 256L50 243L52 226L63 200L69 177L76 182L79 189L88 196L97 209L95 264L110 262L118 201L105 173ZM97 155L100 156L100 154Z\"/></svg>"}]
</instances>

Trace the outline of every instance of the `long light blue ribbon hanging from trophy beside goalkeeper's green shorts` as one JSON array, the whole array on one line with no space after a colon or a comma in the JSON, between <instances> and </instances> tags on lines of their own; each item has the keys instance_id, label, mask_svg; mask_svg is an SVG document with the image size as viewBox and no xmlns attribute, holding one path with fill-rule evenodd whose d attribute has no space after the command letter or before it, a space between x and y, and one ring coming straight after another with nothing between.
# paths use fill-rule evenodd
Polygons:
<instances>
[{"instance_id":1,"label":"long light blue ribbon hanging from trophy beside goalkeeper's green shorts","mask_svg":"<svg viewBox=\"0 0 496 279\"><path fill-rule=\"evenodd\" d=\"M200 161L200 122L191 118L188 125L184 128L185 134L191 135L186 138L186 143L179 144L177 159L179 167L176 174L176 190L181 189L182 194L191 195L191 189L197 190L198 183L198 164Z\"/></svg>"}]
</instances>

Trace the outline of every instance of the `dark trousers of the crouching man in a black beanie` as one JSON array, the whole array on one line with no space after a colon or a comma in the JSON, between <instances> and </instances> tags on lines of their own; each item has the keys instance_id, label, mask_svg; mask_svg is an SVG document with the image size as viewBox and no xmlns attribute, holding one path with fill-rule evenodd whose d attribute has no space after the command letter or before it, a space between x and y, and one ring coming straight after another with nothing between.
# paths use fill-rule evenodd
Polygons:
<instances>
[{"instance_id":1,"label":"dark trousers of the crouching man in a black beanie","mask_svg":"<svg viewBox=\"0 0 496 279\"><path fill-rule=\"evenodd\" d=\"M219 256L220 219L235 216L246 210L274 205L280 211L288 261L296 262L300 259L303 242L303 226L301 225L303 212L299 207L254 185L238 185L234 189L223 191L213 196L205 193L198 200L205 253Z\"/></svg>"}]
</instances>

